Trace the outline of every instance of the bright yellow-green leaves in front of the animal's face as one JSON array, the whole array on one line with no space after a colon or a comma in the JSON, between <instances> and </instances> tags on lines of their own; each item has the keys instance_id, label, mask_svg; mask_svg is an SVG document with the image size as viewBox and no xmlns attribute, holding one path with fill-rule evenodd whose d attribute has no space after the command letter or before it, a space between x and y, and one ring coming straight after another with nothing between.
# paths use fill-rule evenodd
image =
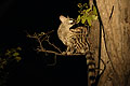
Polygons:
<instances>
[{"instance_id":1,"label":"bright yellow-green leaves in front of the animal's face","mask_svg":"<svg viewBox=\"0 0 130 86\"><path fill-rule=\"evenodd\" d=\"M90 8L87 3L78 3L78 8L80 10L78 11L77 24L81 23L84 26L91 26L91 22L98 19L98 13L94 5Z\"/></svg>"}]
</instances>

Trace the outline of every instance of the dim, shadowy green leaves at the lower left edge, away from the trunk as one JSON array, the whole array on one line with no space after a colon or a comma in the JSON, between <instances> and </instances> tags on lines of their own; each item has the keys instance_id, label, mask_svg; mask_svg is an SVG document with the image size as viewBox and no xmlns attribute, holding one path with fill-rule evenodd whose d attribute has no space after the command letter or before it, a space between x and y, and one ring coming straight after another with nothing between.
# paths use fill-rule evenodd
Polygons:
<instances>
[{"instance_id":1,"label":"dim, shadowy green leaves at the lower left edge, away from the trunk","mask_svg":"<svg viewBox=\"0 0 130 86\"><path fill-rule=\"evenodd\" d=\"M18 62L22 59L20 56L21 51L21 47L6 49L5 53L0 56L0 86L5 86L9 74L6 71L8 66L10 66L13 61Z\"/></svg>"}]
</instances>

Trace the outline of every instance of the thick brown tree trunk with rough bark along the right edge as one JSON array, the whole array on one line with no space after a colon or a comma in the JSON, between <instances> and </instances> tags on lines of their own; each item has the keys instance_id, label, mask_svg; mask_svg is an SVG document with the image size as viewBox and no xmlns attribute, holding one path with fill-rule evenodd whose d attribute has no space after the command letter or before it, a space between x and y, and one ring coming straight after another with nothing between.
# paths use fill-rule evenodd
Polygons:
<instances>
[{"instance_id":1,"label":"thick brown tree trunk with rough bark along the right edge","mask_svg":"<svg viewBox=\"0 0 130 86\"><path fill-rule=\"evenodd\" d=\"M130 86L130 0L96 0L96 4L104 27L101 59L106 64L98 86Z\"/></svg>"}]
</instances>

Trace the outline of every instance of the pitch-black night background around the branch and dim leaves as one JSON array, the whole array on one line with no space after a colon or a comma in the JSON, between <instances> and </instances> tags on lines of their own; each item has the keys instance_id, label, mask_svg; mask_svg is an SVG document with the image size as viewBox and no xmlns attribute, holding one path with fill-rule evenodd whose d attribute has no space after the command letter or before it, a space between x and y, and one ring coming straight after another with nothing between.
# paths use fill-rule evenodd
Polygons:
<instances>
[{"instance_id":1,"label":"pitch-black night background around the branch and dim leaves","mask_svg":"<svg viewBox=\"0 0 130 86\"><path fill-rule=\"evenodd\" d=\"M54 30L52 42L63 51L56 30L61 24L58 16L76 18L77 3L84 0L0 0L0 51L21 46L20 63L10 67L9 86L46 85L82 86L87 84L86 59L60 58L56 66L47 66L49 59L37 54L36 42L26 32ZM52 57L49 55L48 57ZM43 57L43 58L42 58ZM52 58L53 59L53 58ZM51 60L52 61L52 60ZM69 85L68 85L69 84ZM87 86L87 85L86 85Z\"/></svg>"}]
</instances>

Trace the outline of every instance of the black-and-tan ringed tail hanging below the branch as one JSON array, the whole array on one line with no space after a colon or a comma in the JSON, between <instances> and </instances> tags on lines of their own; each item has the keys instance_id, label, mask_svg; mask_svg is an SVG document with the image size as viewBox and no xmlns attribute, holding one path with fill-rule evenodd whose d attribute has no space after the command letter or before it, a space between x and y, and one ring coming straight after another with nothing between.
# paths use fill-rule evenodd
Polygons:
<instances>
[{"instance_id":1,"label":"black-and-tan ringed tail hanging below the branch","mask_svg":"<svg viewBox=\"0 0 130 86\"><path fill-rule=\"evenodd\" d=\"M95 60L91 53L88 53L86 57L88 67L88 86L95 86Z\"/></svg>"}]
</instances>

